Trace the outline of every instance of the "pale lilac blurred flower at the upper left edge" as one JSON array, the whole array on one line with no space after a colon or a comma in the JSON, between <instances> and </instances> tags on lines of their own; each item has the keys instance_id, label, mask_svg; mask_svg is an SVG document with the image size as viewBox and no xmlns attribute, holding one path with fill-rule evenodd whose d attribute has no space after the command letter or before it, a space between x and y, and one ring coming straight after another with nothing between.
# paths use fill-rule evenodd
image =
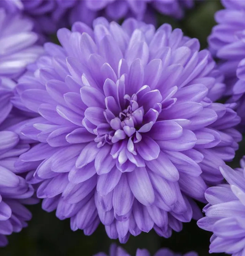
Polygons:
<instances>
[{"instance_id":1,"label":"pale lilac blurred flower at the upper left edge","mask_svg":"<svg viewBox=\"0 0 245 256\"><path fill-rule=\"evenodd\" d=\"M43 49L35 45L38 35L32 32L33 23L29 19L7 13L3 8L0 17L0 77L17 79Z\"/></svg>"}]
</instances>

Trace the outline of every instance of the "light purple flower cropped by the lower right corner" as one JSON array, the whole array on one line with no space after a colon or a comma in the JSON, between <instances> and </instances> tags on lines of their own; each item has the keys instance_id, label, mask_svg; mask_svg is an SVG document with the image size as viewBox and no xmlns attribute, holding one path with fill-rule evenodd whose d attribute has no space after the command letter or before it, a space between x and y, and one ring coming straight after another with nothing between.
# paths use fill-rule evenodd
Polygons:
<instances>
[{"instance_id":1,"label":"light purple flower cropped by the lower right corner","mask_svg":"<svg viewBox=\"0 0 245 256\"><path fill-rule=\"evenodd\" d=\"M225 252L233 256L245 251L245 157L241 168L220 167L228 184L208 188L203 208L206 217L198 221L202 229L213 232L210 253Z\"/></svg>"}]
</instances>

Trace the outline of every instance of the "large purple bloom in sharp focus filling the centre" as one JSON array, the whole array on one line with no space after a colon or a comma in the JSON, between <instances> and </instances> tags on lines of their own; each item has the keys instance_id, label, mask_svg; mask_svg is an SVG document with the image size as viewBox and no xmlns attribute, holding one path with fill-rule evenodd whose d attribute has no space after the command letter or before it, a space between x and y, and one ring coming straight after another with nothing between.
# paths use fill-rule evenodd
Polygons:
<instances>
[{"instance_id":1,"label":"large purple bloom in sharp focus filling the centre","mask_svg":"<svg viewBox=\"0 0 245 256\"><path fill-rule=\"evenodd\" d=\"M39 143L16 168L39 183L43 209L87 235L101 221L122 243L200 218L193 199L223 179L218 167L241 140L233 105L213 102L225 86L210 52L180 29L134 19L57 35L61 46L46 43L17 85L37 115L22 134Z\"/></svg>"}]
</instances>

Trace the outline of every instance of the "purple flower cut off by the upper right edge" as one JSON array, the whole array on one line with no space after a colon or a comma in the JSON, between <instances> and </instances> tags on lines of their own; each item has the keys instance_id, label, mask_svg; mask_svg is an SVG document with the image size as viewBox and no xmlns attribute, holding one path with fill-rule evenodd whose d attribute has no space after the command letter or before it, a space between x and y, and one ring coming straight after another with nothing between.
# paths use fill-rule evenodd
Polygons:
<instances>
[{"instance_id":1,"label":"purple flower cut off by the upper right edge","mask_svg":"<svg viewBox=\"0 0 245 256\"><path fill-rule=\"evenodd\" d=\"M245 4L240 0L221 0L225 9L215 14L216 25L208 42L211 52L218 57L220 70L226 76L229 102L236 102L237 114L245 125Z\"/></svg>"}]
</instances>

